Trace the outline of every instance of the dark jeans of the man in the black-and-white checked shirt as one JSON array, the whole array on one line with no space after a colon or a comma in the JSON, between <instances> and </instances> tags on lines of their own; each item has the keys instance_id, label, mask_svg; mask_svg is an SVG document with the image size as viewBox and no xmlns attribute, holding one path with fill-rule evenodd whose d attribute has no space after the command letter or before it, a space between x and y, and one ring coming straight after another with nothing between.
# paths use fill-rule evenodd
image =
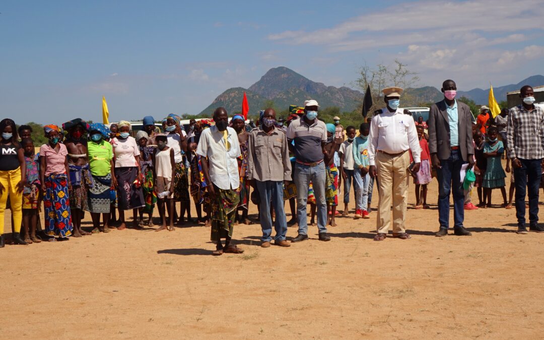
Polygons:
<instances>
[{"instance_id":1,"label":"dark jeans of the man in the black-and-white checked shirt","mask_svg":"<svg viewBox=\"0 0 544 340\"><path fill-rule=\"evenodd\" d=\"M518 227L525 226L525 195L529 188L529 224L539 221L539 187L542 159L520 159L521 168L514 168L516 184L516 217Z\"/></svg>"}]
</instances>

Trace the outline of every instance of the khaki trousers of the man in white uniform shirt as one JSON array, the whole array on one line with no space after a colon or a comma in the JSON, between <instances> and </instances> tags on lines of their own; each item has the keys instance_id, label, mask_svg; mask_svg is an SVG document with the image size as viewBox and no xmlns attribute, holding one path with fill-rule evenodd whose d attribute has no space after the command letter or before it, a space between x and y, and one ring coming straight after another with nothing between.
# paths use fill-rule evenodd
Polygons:
<instances>
[{"instance_id":1,"label":"khaki trousers of the man in white uniform shirt","mask_svg":"<svg viewBox=\"0 0 544 340\"><path fill-rule=\"evenodd\" d=\"M393 233L404 233L406 202L408 200L408 175L410 152L397 157L376 152L376 171L378 171L379 197L376 229L387 234L391 225L391 201L393 201Z\"/></svg>"}]
</instances>

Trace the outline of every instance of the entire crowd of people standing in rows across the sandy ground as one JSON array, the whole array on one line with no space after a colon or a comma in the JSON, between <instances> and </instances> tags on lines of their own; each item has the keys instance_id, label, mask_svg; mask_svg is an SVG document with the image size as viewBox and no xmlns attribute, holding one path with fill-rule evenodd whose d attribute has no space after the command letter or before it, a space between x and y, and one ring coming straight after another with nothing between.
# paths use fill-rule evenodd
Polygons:
<instances>
[{"instance_id":1,"label":"entire crowd of people standing in rows across the sandy ground","mask_svg":"<svg viewBox=\"0 0 544 340\"><path fill-rule=\"evenodd\" d=\"M22 245L90 234L82 228L85 212L91 215L91 233L129 227L125 211L130 210L130 227L153 227L157 206L156 231L174 231L175 224L189 220L203 223L211 227L213 255L241 254L243 250L232 242L233 227L251 223L250 203L258 207L263 248L271 246L273 238L282 247L306 240L308 204L312 226L317 215L319 240L329 241L327 227L336 226L336 215L349 216L352 184L353 218L369 218L374 183L379 196L374 240L385 240L391 224L392 237L409 239L405 219L410 178L415 184L415 209L428 209L427 188L433 177L438 181L438 237L448 234L450 193L454 234L470 236L463 225L465 210L492 207L493 189L500 189L505 208L512 207L515 193L521 234L527 233L528 191L529 230L544 232L537 224L544 113L535 106L530 86L521 89L519 106L503 110L495 119L483 107L475 124L468 106L455 99L452 80L442 84L444 99L431 106L428 121L421 117L414 121L410 112L399 108L403 89L382 92L385 108L358 128L344 129L339 117L333 123L320 120L318 102L307 100L304 107L293 107L285 124L276 119L274 109L263 110L251 130L241 115L229 120L224 108L217 108L211 120L191 120L188 132L175 114L162 121L163 132L153 117L146 116L135 137L128 121L106 126L78 118L61 127L44 126L48 142L39 153L30 126L17 128L13 120L3 119L0 248L7 241L7 203L13 219L10 242ZM509 200L504 156L505 170L511 174ZM473 187L477 206L471 202ZM191 218L190 197L196 219ZM339 197L343 197L342 212L336 210ZM292 213L289 221L285 201ZM290 242L288 225L298 226Z\"/></svg>"}]
</instances>

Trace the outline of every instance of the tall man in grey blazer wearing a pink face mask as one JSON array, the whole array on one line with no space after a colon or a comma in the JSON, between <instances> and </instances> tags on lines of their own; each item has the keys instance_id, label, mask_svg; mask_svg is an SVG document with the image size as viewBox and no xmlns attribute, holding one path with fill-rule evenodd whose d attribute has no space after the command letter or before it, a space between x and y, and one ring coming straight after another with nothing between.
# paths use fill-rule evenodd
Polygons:
<instances>
[{"instance_id":1,"label":"tall man in grey blazer wearing a pink face mask","mask_svg":"<svg viewBox=\"0 0 544 340\"><path fill-rule=\"evenodd\" d=\"M442 83L444 100L432 104L429 112L429 151L438 175L438 222L436 236L446 236L449 228L449 193L453 188L454 233L470 236L463 226L465 195L461 186L461 165L474 166L472 114L465 103L455 100L457 86L452 80Z\"/></svg>"}]
</instances>

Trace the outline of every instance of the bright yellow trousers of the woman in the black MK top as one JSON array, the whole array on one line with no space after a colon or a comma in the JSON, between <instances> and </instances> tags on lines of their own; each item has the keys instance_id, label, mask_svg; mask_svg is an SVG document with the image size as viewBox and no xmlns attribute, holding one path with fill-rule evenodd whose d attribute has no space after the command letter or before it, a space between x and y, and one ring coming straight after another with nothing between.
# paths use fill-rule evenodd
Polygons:
<instances>
[{"instance_id":1,"label":"bright yellow trousers of the woman in the black MK top","mask_svg":"<svg viewBox=\"0 0 544 340\"><path fill-rule=\"evenodd\" d=\"M21 168L10 171L0 171L0 183L4 187L0 194L0 235L4 233L4 212L5 203L8 201L8 195L11 203L11 215L13 215L14 230L16 233L21 231L21 221L23 217L23 193L17 191L17 183L21 181Z\"/></svg>"}]
</instances>

